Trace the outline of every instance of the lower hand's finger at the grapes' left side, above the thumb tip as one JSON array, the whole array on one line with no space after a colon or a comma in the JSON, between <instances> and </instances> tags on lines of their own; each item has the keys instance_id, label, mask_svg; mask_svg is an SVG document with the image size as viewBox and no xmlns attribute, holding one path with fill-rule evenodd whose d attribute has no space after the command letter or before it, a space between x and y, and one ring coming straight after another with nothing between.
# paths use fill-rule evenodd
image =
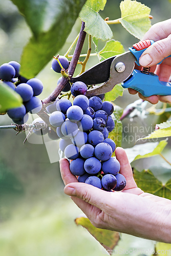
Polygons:
<instances>
[{"instance_id":1,"label":"lower hand's finger at the grapes' left side, above the thumb tip","mask_svg":"<svg viewBox=\"0 0 171 256\"><path fill-rule=\"evenodd\" d=\"M71 182L78 182L77 178L70 172L70 163L66 158L59 161L60 174L65 185Z\"/></svg>"}]
</instances>

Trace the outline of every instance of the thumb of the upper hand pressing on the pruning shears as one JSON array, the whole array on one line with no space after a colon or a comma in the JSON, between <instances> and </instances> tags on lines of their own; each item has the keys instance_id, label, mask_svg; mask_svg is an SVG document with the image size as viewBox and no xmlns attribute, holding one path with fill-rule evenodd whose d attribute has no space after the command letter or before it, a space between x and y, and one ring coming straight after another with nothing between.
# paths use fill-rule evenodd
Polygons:
<instances>
[{"instance_id":1,"label":"thumb of the upper hand pressing on the pruning shears","mask_svg":"<svg viewBox=\"0 0 171 256\"><path fill-rule=\"evenodd\" d=\"M142 67L152 67L171 54L171 36L154 42L141 55L139 63Z\"/></svg>"}]
</instances>

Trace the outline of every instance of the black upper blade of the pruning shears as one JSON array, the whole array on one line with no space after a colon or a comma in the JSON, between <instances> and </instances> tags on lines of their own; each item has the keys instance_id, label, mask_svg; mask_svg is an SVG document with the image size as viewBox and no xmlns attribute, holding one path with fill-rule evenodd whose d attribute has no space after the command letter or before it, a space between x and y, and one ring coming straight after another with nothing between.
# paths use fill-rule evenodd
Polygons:
<instances>
[{"instance_id":1,"label":"black upper blade of the pruning shears","mask_svg":"<svg viewBox=\"0 0 171 256\"><path fill-rule=\"evenodd\" d=\"M81 81L86 83L88 86L91 84L99 84L108 81L110 77L110 67L113 59L116 56L105 59L93 66L91 69L83 72L78 77L72 77L71 82Z\"/></svg>"}]
</instances>

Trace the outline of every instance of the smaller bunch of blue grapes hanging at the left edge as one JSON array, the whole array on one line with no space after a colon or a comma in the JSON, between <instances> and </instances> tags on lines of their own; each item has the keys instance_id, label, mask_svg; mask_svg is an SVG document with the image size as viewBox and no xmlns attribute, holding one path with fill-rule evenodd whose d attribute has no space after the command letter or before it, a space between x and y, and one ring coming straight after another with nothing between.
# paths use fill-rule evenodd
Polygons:
<instances>
[{"instance_id":1,"label":"smaller bunch of blue grapes hanging at the left edge","mask_svg":"<svg viewBox=\"0 0 171 256\"><path fill-rule=\"evenodd\" d=\"M0 79L5 87L10 87L22 97L22 106L7 110L7 114L14 123L23 124L29 118L28 112L36 114L41 110L42 102L36 96L42 92L43 84L37 78L28 80L20 76L19 69L20 64L16 61L4 63L0 67Z\"/></svg>"}]
</instances>

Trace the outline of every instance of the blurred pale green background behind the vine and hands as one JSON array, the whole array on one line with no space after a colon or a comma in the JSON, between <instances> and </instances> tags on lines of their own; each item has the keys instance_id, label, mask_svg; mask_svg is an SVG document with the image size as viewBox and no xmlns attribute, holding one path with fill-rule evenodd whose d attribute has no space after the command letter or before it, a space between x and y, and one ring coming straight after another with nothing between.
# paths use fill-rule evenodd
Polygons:
<instances>
[{"instance_id":1,"label":"blurred pale green background behind the vine and hands","mask_svg":"<svg viewBox=\"0 0 171 256\"><path fill-rule=\"evenodd\" d=\"M108 0L100 15L116 19L120 17L120 0ZM142 0L142 4L152 9L152 24L170 18L171 4L168 0ZM18 61L23 47L27 44L31 31L25 18L19 14L15 5L9 0L0 0L0 65L11 60ZM63 55L71 45L80 30L78 18L66 44L60 50ZM118 40L128 50L137 38L129 34L120 24L111 25L114 39ZM99 50L104 42L99 42ZM92 47L94 50L94 46ZM92 50L92 52L93 52ZM87 42L82 53L87 52ZM87 69L98 62L97 57L90 57ZM79 73L77 68L75 76ZM37 78L44 83L44 91L39 98L47 97L56 87L59 74L51 69L51 62L42 70ZM126 90L115 104L123 109L138 99ZM147 104L149 108L151 104ZM161 108L159 103L157 108ZM168 117L168 116L167 116ZM31 119L30 119L31 120ZM125 129L123 136L132 136L132 141L123 141L122 146L132 147L136 136L130 127L138 127L136 135L141 135L140 127L144 127L143 135L154 130L155 124L166 120L166 116L148 116L146 119L128 118L123 120ZM7 116L0 116L0 125L11 124ZM146 127L146 129L145 129ZM150 127L150 129L148 128ZM148 130L149 129L149 130ZM77 227L74 219L82 212L63 193L63 182L60 177L59 163L51 163L45 144L32 144L23 141L25 133L15 136L14 130L0 130L0 252L1 256L101 256L104 254L101 245L86 229ZM131 138L131 137L130 137ZM141 142L142 143L142 142ZM57 154L57 153L55 153ZM170 139L164 155L169 159ZM148 168L158 157L141 160L136 163L139 170ZM160 161L160 160L159 160ZM167 174L171 177L170 173ZM122 234L116 249L154 249L154 241L147 241ZM138 255L139 253L137 253ZM150 255L151 253L147 253ZM121 253L119 254L121 255ZM136 254L135 254L136 255Z\"/></svg>"}]
</instances>

